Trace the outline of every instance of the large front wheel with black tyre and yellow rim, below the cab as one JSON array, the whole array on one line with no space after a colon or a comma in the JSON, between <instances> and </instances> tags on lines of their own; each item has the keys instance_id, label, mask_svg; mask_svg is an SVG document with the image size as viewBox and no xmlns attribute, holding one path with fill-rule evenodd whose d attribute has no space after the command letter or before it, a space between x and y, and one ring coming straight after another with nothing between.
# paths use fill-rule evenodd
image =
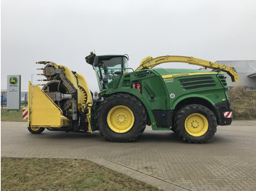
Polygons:
<instances>
[{"instance_id":1,"label":"large front wheel with black tyre and yellow rim, below the cab","mask_svg":"<svg viewBox=\"0 0 256 191\"><path fill-rule=\"evenodd\" d=\"M131 117L132 115L130 115L130 117L127 117L127 114L125 113L124 116L122 116L121 112L117 112L119 115L114 114L114 112L112 111L115 111L115 109L119 107L124 107L124 109L128 108L129 113L132 114L133 117ZM119 118L119 122L118 117L115 117L120 115L122 118ZM114 117L114 121L116 121L116 123L113 122L114 125L112 125L111 123L113 120L109 120L111 116ZM126 121L125 119L128 120ZM132 121L130 119L132 119ZM113 129L116 127L115 124L122 122L124 123L124 125L130 122L130 128L126 128L124 132L118 132L118 129ZM108 141L135 141L141 136L146 128L146 109L144 108L143 104L141 104L141 102L138 100L138 98L135 98L134 96L127 93L110 95L108 98L105 98L105 101L103 101L102 104L99 106L97 114L97 126L99 128L99 133Z\"/></svg>"}]
</instances>

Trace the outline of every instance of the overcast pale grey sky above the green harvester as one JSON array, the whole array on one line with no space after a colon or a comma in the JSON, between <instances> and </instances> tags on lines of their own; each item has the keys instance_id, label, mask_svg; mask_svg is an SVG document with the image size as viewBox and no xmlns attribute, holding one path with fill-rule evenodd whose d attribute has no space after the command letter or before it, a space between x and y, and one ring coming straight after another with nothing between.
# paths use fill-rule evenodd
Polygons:
<instances>
[{"instance_id":1,"label":"overcast pale grey sky above the green harvester","mask_svg":"<svg viewBox=\"0 0 256 191\"><path fill-rule=\"evenodd\" d=\"M136 69L148 55L207 61L256 60L254 0L1 0L1 90L21 75L21 90L37 76L37 61L83 74L98 91L85 57L129 55ZM165 63L168 68L195 68Z\"/></svg>"}]
</instances>

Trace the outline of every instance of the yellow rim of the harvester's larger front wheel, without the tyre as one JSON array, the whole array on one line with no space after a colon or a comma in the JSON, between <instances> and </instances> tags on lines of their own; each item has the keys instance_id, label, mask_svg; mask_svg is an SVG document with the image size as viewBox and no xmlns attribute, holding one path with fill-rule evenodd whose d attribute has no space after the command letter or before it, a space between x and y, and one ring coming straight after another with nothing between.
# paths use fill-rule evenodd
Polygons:
<instances>
[{"instance_id":1,"label":"yellow rim of the harvester's larger front wheel, without the tyre","mask_svg":"<svg viewBox=\"0 0 256 191\"><path fill-rule=\"evenodd\" d=\"M115 106L108 112L107 122L116 133L126 133L132 128L135 117L127 106Z\"/></svg>"}]
</instances>

